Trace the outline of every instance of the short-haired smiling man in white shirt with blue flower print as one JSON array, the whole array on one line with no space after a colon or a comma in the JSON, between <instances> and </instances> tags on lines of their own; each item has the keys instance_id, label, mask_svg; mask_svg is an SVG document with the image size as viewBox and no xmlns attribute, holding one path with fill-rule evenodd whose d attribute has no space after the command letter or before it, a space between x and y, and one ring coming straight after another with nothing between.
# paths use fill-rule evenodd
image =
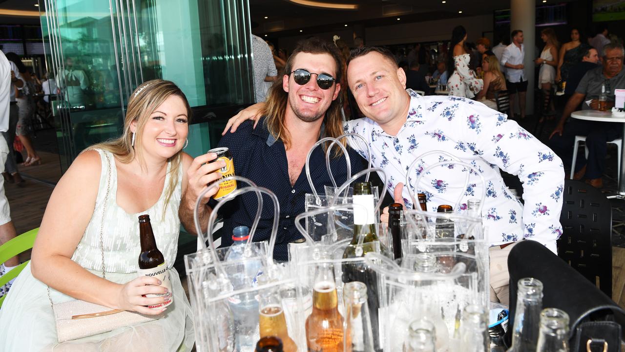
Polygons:
<instances>
[{"instance_id":1,"label":"short-haired smiling man in white shirt with blue flower print","mask_svg":"<svg viewBox=\"0 0 625 352\"><path fill-rule=\"evenodd\" d=\"M512 244L531 239L556 253L556 240L562 234L559 218L564 187L560 158L506 115L477 101L419 96L404 90L404 71L386 49L352 51L347 79L367 118L347 122L345 130L367 138L372 163L384 169L389 191L394 191L396 199L403 198L408 208L412 202L403 183L415 158L419 161L407 181L414 194L426 194L429 211L435 212L441 204L456 204L461 193L456 210L466 209L468 199L484 192L477 172L484 177L482 222L491 246L491 301L507 303L507 254ZM359 139L353 138L350 145L367 157ZM433 153L422 156L427 152ZM424 168L452 160L450 155L477 171L445 165L433 168L415 184ZM507 189L500 168L523 182L525 207Z\"/></svg>"}]
</instances>

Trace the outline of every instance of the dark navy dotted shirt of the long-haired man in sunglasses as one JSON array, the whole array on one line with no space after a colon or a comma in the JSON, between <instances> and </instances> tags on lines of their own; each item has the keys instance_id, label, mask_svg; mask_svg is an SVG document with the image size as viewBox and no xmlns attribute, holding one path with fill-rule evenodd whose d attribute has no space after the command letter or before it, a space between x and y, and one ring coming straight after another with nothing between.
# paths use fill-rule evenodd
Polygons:
<instances>
[{"instance_id":1,"label":"dark navy dotted shirt of the long-haired man in sunglasses","mask_svg":"<svg viewBox=\"0 0 625 352\"><path fill-rule=\"evenodd\" d=\"M256 182L259 187L265 187L276 194L280 203L280 219L274 259L287 261L289 259L287 244L302 238L295 227L294 219L304 212L305 195L312 193L312 190L304 168L295 185L291 187L284 143L272 137L264 125L264 118L261 118L255 129L252 126L252 121L242 123L235 133L227 133L221 138L219 147L230 149L236 175L246 177ZM349 147L347 151L351 160L352 175L364 170L366 160ZM323 194L324 185L332 185L332 181L327 173L325 152L321 146L312 153L309 165L312 182L317 192ZM347 163L343 155L331 158L330 166L337 185L347 180ZM245 187L239 182L239 187L241 186ZM254 234L254 242L269 240L274 217L272 204L271 198L263 194L262 214L256 234ZM220 231L221 247L231 246L234 227L252 226L256 207L257 196L254 192L240 195L222 205L219 209L219 217L224 219L224 227Z\"/></svg>"}]
</instances>

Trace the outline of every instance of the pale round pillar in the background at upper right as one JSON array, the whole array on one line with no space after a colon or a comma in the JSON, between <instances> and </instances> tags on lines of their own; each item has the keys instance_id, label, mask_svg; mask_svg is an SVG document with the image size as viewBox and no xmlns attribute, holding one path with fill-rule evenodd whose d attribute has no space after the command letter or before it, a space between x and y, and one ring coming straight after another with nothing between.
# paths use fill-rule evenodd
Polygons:
<instances>
[{"instance_id":1,"label":"pale round pillar in the background at upper right","mask_svg":"<svg viewBox=\"0 0 625 352\"><path fill-rule=\"evenodd\" d=\"M534 113L534 59L536 53L536 2L528 0L510 0L510 31L521 29L523 31L525 60L525 77L527 78L526 114ZM511 39L512 41L512 39Z\"/></svg>"}]
</instances>

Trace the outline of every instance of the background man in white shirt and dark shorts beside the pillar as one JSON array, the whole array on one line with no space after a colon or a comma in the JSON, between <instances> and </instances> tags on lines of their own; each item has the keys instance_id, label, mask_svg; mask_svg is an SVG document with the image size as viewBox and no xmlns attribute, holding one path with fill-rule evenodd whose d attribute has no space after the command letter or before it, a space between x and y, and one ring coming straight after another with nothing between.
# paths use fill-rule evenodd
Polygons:
<instances>
[{"instance_id":1,"label":"background man in white shirt and dark shorts beside the pillar","mask_svg":"<svg viewBox=\"0 0 625 352\"><path fill-rule=\"evenodd\" d=\"M514 107L516 95L519 93L519 110L521 118L525 118L525 93L527 91L527 78L523 60L525 58L525 47L523 46L523 31L515 29L512 31L512 44L506 46L501 56L502 67L506 68L506 87L510 93L510 101Z\"/></svg>"}]
</instances>

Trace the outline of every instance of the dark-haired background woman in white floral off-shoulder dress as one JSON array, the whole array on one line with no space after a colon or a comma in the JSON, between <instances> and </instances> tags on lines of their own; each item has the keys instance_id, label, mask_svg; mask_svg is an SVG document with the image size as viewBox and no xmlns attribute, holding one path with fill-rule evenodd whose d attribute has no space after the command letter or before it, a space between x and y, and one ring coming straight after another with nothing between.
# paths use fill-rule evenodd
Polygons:
<instances>
[{"instance_id":1,"label":"dark-haired background woman in white floral off-shoulder dress","mask_svg":"<svg viewBox=\"0 0 625 352\"><path fill-rule=\"evenodd\" d=\"M473 98L482 90L484 82L477 78L475 71L469 67L471 55L464 46L466 39L466 29L456 26L451 33L452 55L449 56L447 64L450 71L447 88L449 88L449 95Z\"/></svg>"}]
</instances>

